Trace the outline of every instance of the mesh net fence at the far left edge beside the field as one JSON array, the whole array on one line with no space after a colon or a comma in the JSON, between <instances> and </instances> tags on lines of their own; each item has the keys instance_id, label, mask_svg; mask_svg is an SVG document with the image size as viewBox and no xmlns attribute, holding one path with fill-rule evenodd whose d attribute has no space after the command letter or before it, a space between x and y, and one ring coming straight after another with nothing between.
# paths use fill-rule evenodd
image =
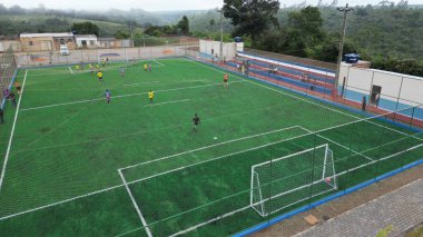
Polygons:
<instances>
[{"instance_id":1,"label":"mesh net fence at the far left edge beside the field","mask_svg":"<svg viewBox=\"0 0 423 237\"><path fill-rule=\"evenodd\" d=\"M10 47L0 56L0 107L3 106L2 101L6 99L3 91L11 86L10 82L12 81L17 68L16 57Z\"/></svg>"}]
</instances>

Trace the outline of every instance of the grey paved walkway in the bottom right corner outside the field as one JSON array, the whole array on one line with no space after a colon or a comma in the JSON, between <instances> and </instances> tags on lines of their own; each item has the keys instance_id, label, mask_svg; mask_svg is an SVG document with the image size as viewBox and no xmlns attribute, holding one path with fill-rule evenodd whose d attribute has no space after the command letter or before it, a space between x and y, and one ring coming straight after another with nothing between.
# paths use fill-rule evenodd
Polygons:
<instances>
[{"instance_id":1,"label":"grey paved walkway in the bottom right corner outside the field","mask_svg":"<svg viewBox=\"0 0 423 237\"><path fill-rule=\"evenodd\" d=\"M422 223L423 179L417 179L295 237L374 237L388 225L394 228L390 237L404 236L405 231Z\"/></svg>"}]
</instances>

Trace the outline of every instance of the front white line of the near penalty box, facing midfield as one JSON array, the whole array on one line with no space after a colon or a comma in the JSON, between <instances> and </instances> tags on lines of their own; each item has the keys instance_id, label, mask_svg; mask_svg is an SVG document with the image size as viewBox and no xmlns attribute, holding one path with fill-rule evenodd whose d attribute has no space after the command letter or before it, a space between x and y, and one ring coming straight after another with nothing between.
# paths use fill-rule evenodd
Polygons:
<instances>
[{"instance_id":1,"label":"front white line of the near penalty box, facing midfield","mask_svg":"<svg viewBox=\"0 0 423 237\"><path fill-rule=\"evenodd\" d=\"M222 146L222 145L225 145L225 144L232 144L232 142L235 142L235 141L246 140L246 139L249 139L249 138L260 137L260 136L264 136L264 135L275 134L275 132L279 132L279 131L284 131L284 130L289 130L289 129L294 129L294 128L299 128L299 126L293 126L293 127L276 129L276 130L266 131L266 132L262 132L262 134L257 134L257 135L250 135L250 136L246 136L246 137L242 137L242 138L236 138L236 139L232 139L232 140L227 140L227 141L223 141L223 142L218 142L218 144L214 144L214 145L196 148L196 149L193 149L193 150L186 150L186 151L183 151L183 152L179 152L179 154L174 154L174 155L170 155L170 156L161 157L161 158L158 158L158 159L155 159L155 160L148 160L148 161L145 161L145 162L135 164L135 165L127 166L127 167L124 167L124 168L120 168L120 169L125 170L125 169L135 168L137 166L145 166L145 165L148 165L148 164L151 164L151 162L157 162L157 161L166 160L166 159L169 159L169 158L173 158L173 157L177 157L177 156L180 156L180 155L190 154L190 152L195 152L195 151L199 151L199 150L205 150L205 149L208 149L208 148L212 148L212 147L217 147L217 146Z\"/></svg>"}]
</instances>

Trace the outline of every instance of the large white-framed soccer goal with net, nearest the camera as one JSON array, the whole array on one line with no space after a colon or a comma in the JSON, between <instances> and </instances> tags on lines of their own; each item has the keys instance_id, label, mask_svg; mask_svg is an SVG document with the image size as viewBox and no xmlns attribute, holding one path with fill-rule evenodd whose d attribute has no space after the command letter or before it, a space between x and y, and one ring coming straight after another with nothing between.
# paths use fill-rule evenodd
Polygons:
<instances>
[{"instance_id":1,"label":"large white-framed soccer goal with net, nearest the camera","mask_svg":"<svg viewBox=\"0 0 423 237\"><path fill-rule=\"evenodd\" d=\"M333 151L326 144L254 165L250 207L265 217L335 189Z\"/></svg>"}]
</instances>

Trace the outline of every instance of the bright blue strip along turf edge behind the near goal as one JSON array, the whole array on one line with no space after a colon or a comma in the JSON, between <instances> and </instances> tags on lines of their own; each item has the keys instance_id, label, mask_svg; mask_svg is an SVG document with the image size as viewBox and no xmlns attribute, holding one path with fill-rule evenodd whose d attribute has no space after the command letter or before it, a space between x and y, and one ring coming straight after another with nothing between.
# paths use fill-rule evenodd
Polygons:
<instances>
[{"instance_id":1,"label":"bright blue strip along turf edge behind the near goal","mask_svg":"<svg viewBox=\"0 0 423 237\"><path fill-rule=\"evenodd\" d=\"M292 210L292 211L289 211L289 213L284 214L284 215L281 215L281 216L278 216L278 217L275 217L275 218L270 219L270 220L267 221L267 223L262 223L262 224L259 224L259 225L256 225L256 226L254 226L254 227L252 227L252 228L248 228L248 229L246 229L246 230L243 230L243 231L240 231L240 233L238 233L238 234L235 234L235 235L233 235L233 236L234 236L234 237L242 237L242 236L250 235L250 234L253 234L253 233L256 233L256 231L258 231L258 230L262 230L262 229L265 229L265 228L267 228L267 227L269 227L269 226L273 226L274 224L277 224L277 223L279 223L279 221L282 221L282 220L284 220L284 219L287 219L287 218L289 218L289 217L292 217L292 216L295 216L295 215L297 215L297 214L304 213L304 211L306 211L306 210L309 210L309 209L312 209L312 208L315 208L315 207L317 207L317 206L321 206L321 205L323 205L323 204L326 204L326 203L328 203L328 201L331 201L331 200L334 200L334 199L336 199L336 198L343 197L343 196L348 195L348 194L351 194L351 192L357 191L357 190L360 190L360 189L362 189L362 188L364 188L364 187L367 187L367 186L370 186L370 185L373 185L373 184L375 184L375 182L378 182L378 181L381 181L381 180L384 180L384 179L386 179L386 178L388 178L388 177L392 177L392 176L394 176L394 175L397 175L397 174L400 174L400 172L402 172L402 171L404 171L404 170L407 170L407 169L410 169L410 168L416 167L416 166L419 166L419 165L423 165L423 158L420 159L420 160L417 160L417 161L414 161L414 162L412 162L412 164L409 164L409 165L406 165L406 166L404 166L404 167L401 167L401 168L399 168L399 169L395 169L395 170L392 170L392 171L390 171L390 172L386 172L386 174L384 174L384 175L382 175L382 176L378 176L378 177L376 177L376 178L374 178L374 179L372 179L372 180L368 180L368 181L362 182L362 184L356 185L356 186L354 186L354 187L347 188L347 189L345 189L345 190L343 190L343 191L340 191L340 192L336 192L336 194L331 195L331 196L328 196L328 197L325 197L325 198L323 198L323 199L321 199L321 200L314 201L314 203L312 203L312 204L309 204L309 205L307 205L307 206L304 206L304 207L297 208L297 209L295 209L295 210Z\"/></svg>"}]
</instances>

